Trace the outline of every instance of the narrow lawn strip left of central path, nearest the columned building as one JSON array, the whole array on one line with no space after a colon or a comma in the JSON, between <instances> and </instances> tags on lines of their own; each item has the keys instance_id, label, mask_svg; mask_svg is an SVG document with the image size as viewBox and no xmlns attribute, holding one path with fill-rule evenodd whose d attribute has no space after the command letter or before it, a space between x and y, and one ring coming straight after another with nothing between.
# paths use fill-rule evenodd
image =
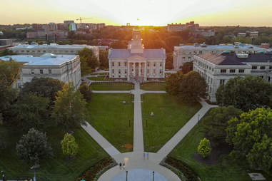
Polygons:
<instances>
[{"instance_id":1,"label":"narrow lawn strip left of central path, nearest the columned building","mask_svg":"<svg viewBox=\"0 0 272 181\"><path fill-rule=\"evenodd\" d=\"M132 90L132 83L91 83L91 90Z\"/></svg>"}]
</instances>

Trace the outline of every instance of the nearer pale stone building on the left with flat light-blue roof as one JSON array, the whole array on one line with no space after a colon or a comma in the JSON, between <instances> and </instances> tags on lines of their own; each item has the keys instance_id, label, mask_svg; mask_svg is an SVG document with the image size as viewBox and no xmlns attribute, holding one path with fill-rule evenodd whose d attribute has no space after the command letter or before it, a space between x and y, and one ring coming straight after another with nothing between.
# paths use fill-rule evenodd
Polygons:
<instances>
[{"instance_id":1,"label":"nearer pale stone building on the left with flat light-blue roof","mask_svg":"<svg viewBox=\"0 0 272 181\"><path fill-rule=\"evenodd\" d=\"M79 56L46 53L40 57L29 55L0 57L2 61L9 61L10 59L23 63L21 78L14 85L17 88L23 86L26 82L30 82L34 77L50 77L64 83L72 81L76 89L81 84Z\"/></svg>"}]
</instances>

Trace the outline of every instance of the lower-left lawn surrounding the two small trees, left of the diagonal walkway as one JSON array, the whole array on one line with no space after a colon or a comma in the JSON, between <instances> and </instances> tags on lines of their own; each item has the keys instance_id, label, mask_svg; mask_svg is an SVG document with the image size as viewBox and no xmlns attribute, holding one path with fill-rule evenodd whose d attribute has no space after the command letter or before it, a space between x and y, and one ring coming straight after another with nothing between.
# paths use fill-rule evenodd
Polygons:
<instances>
[{"instance_id":1,"label":"lower-left lawn surrounding the two small trees, left of the diagonal walkway","mask_svg":"<svg viewBox=\"0 0 272 181\"><path fill-rule=\"evenodd\" d=\"M0 169L5 171L6 179L33 177L33 170L29 170L31 165L26 165L16 155L15 147L21 134L1 126L0 136L9 143L6 150L0 154ZM76 180L76 177L79 177L91 165L109 156L83 129L75 130L74 133L76 143L79 144L79 154L73 160L67 160L61 150L60 142L64 132L53 128L47 136L53 148L54 157L41 162L41 167L37 170L37 180Z\"/></svg>"}]
</instances>

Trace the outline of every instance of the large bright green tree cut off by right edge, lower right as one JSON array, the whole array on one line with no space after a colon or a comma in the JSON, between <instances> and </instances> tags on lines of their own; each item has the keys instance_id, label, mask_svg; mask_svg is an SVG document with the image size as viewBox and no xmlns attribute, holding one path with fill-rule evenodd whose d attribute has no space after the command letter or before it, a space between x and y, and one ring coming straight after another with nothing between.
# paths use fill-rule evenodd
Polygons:
<instances>
[{"instance_id":1,"label":"large bright green tree cut off by right edge, lower right","mask_svg":"<svg viewBox=\"0 0 272 181\"><path fill-rule=\"evenodd\" d=\"M233 145L231 157L252 169L272 172L272 110L256 108L228 121L226 141Z\"/></svg>"}]
</instances>

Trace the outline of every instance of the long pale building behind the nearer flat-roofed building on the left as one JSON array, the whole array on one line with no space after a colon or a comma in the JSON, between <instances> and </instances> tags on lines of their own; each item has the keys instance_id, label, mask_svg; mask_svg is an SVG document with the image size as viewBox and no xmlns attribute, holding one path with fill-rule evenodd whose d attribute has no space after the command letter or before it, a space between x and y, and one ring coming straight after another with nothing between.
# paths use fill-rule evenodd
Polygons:
<instances>
[{"instance_id":1,"label":"long pale building behind the nearer flat-roofed building on the left","mask_svg":"<svg viewBox=\"0 0 272 181\"><path fill-rule=\"evenodd\" d=\"M28 44L19 44L18 46L14 46L9 48L9 50L13 51L16 54L20 55L31 55L31 56L41 56L44 53L54 53L59 55L76 55L83 48L91 49L96 57L99 59L99 47L98 46L88 46L88 45L58 45L56 43L50 43L38 45L36 43L28 45Z\"/></svg>"}]
</instances>

